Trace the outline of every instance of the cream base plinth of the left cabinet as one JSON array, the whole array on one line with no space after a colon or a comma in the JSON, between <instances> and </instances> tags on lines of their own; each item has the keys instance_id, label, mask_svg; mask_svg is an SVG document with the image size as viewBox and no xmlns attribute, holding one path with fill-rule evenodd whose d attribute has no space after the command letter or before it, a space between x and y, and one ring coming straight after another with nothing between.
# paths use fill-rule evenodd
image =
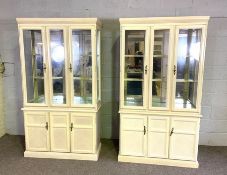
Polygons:
<instances>
[{"instance_id":1,"label":"cream base plinth of the left cabinet","mask_svg":"<svg viewBox=\"0 0 227 175\"><path fill-rule=\"evenodd\" d=\"M25 151L24 157L97 161L99 158L100 150L101 144L94 154Z\"/></svg>"}]
</instances>

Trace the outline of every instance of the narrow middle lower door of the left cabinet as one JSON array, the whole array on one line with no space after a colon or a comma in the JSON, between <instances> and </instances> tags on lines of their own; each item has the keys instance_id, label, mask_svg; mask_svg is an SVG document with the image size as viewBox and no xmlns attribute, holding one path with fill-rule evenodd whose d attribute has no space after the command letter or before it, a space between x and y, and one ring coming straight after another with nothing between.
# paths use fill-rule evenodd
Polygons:
<instances>
[{"instance_id":1,"label":"narrow middle lower door of the left cabinet","mask_svg":"<svg viewBox=\"0 0 227 175\"><path fill-rule=\"evenodd\" d=\"M68 112L50 112L51 151L70 152L70 119Z\"/></svg>"}]
</instances>

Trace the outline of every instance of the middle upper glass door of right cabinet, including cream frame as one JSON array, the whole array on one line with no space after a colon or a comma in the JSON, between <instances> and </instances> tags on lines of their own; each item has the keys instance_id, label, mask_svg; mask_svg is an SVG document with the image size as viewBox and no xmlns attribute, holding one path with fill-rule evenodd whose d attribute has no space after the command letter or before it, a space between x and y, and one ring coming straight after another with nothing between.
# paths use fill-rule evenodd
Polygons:
<instances>
[{"instance_id":1,"label":"middle upper glass door of right cabinet, including cream frame","mask_svg":"<svg viewBox=\"0 0 227 175\"><path fill-rule=\"evenodd\" d=\"M169 67L172 59L173 29L169 27L151 30L150 58L150 96L149 106L152 109L169 108L170 77Z\"/></svg>"}]
</instances>

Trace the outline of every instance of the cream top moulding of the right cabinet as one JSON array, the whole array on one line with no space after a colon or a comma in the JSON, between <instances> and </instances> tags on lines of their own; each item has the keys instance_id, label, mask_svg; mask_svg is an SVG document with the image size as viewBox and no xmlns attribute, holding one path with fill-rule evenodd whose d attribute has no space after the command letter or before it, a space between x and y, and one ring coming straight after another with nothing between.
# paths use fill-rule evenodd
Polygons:
<instances>
[{"instance_id":1,"label":"cream top moulding of the right cabinet","mask_svg":"<svg viewBox=\"0 0 227 175\"><path fill-rule=\"evenodd\" d=\"M120 24L208 24L209 16L120 18Z\"/></svg>"}]
</instances>

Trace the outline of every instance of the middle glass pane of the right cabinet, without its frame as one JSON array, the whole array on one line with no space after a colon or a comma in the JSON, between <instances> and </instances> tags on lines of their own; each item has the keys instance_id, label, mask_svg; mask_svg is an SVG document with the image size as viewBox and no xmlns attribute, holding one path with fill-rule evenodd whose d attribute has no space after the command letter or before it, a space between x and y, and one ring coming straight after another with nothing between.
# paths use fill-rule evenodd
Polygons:
<instances>
[{"instance_id":1,"label":"middle glass pane of the right cabinet, without its frame","mask_svg":"<svg viewBox=\"0 0 227 175\"><path fill-rule=\"evenodd\" d=\"M169 35L169 29L154 31L152 107L167 107Z\"/></svg>"}]
</instances>

